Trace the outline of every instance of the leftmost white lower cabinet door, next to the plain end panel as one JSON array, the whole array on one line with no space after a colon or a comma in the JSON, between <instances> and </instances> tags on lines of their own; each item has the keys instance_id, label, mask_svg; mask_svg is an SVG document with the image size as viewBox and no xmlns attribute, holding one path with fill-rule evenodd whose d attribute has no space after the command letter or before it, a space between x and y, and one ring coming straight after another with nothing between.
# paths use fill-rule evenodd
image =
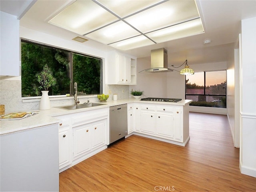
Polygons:
<instances>
[{"instance_id":1,"label":"leftmost white lower cabinet door, next to the plain end panel","mask_svg":"<svg viewBox=\"0 0 256 192\"><path fill-rule=\"evenodd\" d=\"M69 126L59 128L59 168L72 163L71 156L71 134Z\"/></svg>"}]
</instances>

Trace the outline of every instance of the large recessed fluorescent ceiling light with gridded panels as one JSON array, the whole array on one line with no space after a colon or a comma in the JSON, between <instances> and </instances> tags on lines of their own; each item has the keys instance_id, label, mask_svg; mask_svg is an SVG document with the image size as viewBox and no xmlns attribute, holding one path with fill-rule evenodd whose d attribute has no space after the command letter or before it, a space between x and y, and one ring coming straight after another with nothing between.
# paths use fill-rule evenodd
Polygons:
<instances>
[{"instance_id":1,"label":"large recessed fluorescent ceiling light with gridded panels","mask_svg":"<svg viewBox=\"0 0 256 192\"><path fill-rule=\"evenodd\" d=\"M204 32L195 0L76 0L49 22L122 50Z\"/></svg>"}]
</instances>

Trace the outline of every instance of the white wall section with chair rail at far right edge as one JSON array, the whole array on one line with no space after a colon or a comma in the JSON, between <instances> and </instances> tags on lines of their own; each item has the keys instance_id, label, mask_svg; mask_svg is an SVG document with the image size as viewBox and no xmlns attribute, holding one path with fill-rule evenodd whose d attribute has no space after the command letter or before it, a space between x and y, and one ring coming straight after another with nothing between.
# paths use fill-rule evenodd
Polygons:
<instances>
[{"instance_id":1,"label":"white wall section with chair rail at far right edge","mask_svg":"<svg viewBox=\"0 0 256 192\"><path fill-rule=\"evenodd\" d=\"M240 170L256 177L256 17L242 20Z\"/></svg>"}]
</instances>

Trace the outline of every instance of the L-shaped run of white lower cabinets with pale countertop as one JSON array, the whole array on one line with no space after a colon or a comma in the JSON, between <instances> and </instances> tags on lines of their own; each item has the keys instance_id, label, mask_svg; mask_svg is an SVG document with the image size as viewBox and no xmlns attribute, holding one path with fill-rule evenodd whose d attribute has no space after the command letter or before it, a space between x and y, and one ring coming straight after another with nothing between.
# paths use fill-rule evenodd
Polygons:
<instances>
[{"instance_id":1,"label":"L-shaped run of white lower cabinets with pale countertop","mask_svg":"<svg viewBox=\"0 0 256 192\"><path fill-rule=\"evenodd\" d=\"M136 134L185 146L189 140L190 102L129 98L75 110L53 107L22 120L0 121L1 190L58 191L59 172L107 148L110 106L128 105L127 136ZM81 138L87 132L88 138ZM80 148L79 142L84 140L88 143Z\"/></svg>"}]
</instances>

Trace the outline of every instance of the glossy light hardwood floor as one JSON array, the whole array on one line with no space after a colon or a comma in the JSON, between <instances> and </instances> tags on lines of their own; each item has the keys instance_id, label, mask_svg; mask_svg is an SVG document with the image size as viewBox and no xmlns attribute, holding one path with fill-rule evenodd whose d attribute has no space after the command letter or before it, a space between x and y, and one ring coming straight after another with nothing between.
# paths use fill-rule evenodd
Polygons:
<instances>
[{"instance_id":1,"label":"glossy light hardwood floor","mask_svg":"<svg viewBox=\"0 0 256 192\"><path fill-rule=\"evenodd\" d=\"M60 192L249 192L227 117L190 113L185 147L130 136L60 173Z\"/></svg>"}]
</instances>

